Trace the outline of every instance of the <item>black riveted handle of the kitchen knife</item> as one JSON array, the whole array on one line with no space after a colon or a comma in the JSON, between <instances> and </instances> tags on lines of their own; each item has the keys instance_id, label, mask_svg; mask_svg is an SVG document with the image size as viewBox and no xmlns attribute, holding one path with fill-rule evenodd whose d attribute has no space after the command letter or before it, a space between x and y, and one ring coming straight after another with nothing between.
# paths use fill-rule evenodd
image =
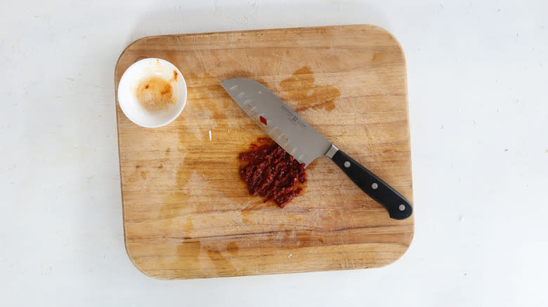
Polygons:
<instances>
[{"instance_id":1,"label":"black riveted handle of the kitchen knife","mask_svg":"<svg viewBox=\"0 0 548 307\"><path fill-rule=\"evenodd\" d=\"M407 219L413 212L411 203L379 177L350 158L340 149L331 158L362 191L384 205L392 219Z\"/></svg>"}]
</instances>

